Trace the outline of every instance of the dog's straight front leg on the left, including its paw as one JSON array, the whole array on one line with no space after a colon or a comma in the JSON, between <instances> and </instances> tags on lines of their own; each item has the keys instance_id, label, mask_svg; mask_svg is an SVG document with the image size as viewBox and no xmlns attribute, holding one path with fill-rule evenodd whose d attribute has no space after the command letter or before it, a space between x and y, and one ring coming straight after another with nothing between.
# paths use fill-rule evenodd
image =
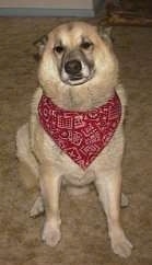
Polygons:
<instances>
[{"instance_id":1,"label":"dog's straight front leg on the left, including its paw","mask_svg":"<svg viewBox=\"0 0 152 265\"><path fill-rule=\"evenodd\" d=\"M48 163L40 165L40 189L45 204L46 220L43 230L43 241L55 246L60 241L60 195L61 176Z\"/></svg>"}]
</instances>

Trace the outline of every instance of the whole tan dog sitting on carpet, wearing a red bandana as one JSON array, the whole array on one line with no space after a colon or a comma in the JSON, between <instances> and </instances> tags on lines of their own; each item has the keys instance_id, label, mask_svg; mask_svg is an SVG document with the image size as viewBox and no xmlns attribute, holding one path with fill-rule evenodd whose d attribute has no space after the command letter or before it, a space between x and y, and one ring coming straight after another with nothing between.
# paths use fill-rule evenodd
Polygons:
<instances>
[{"instance_id":1,"label":"whole tan dog sitting on carpet, wearing a red bandana","mask_svg":"<svg viewBox=\"0 0 152 265\"><path fill-rule=\"evenodd\" d=\"M112 249L127 257L132 245L119 220L120 201L127 204L121 193L126 95L109 35L109 28L70 22L35 43L39 87L30 120L17 130L16 149L25 185L40 187L31 216L45 210L47 245L61 239L61 186L80 196L93 183Z\"/></svg>"}]
</instances>

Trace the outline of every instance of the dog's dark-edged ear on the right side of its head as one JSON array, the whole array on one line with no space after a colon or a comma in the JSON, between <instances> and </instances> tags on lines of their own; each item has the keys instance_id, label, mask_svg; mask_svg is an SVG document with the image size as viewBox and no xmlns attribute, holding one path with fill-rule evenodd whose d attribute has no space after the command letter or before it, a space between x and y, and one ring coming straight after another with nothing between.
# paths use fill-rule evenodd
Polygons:
<instances>
[{"instance_id":1,"label":"dog's dark-edged ear on the right side of its head","mask_svg":"<svg viewBox=\"0 0 152 265\"><path fill-rule=\"evenodd\" d=\"M112 45L114 43L112 26L100 25L98 34L107 44Z\"/></svg>"}]
</instances>

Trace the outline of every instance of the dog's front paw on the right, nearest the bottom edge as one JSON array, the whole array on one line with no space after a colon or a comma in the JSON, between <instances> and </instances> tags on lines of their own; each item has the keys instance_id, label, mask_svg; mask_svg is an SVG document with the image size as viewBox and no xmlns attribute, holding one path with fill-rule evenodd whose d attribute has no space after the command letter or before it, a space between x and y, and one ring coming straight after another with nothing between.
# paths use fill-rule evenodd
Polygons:
<instances>
[{"instance_id":1,"label":"dog's front paw on the right, nearest the bottom edge","mask_svg":"<svg viewBox=\"0 0 152 265\"><path fill-rule=\"evenodd\" d=\"M128 257L131 254L132 244L124 234L124 231L118 237L112 238L112 247L115 254L121 257Z\"/></svg>"}]
</instances>

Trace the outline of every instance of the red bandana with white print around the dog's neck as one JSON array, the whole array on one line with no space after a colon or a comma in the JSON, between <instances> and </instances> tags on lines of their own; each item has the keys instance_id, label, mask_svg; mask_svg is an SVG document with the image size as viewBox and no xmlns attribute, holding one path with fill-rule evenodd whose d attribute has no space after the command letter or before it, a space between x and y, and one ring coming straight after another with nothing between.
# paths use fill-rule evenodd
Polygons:
<instances>
[{"instance_id":1,"label":"red bandana with white print around the dog's neck","mask_svg":"<svg viewBox=\"0 0 152 265\"><path fill-rule=\"evenodd\" d=\"M75 163L86 169L113 137L121 116L118 95L87 112L66 111L42 96L39 120L46 132Z\"/></svg>"}]
</instances>

